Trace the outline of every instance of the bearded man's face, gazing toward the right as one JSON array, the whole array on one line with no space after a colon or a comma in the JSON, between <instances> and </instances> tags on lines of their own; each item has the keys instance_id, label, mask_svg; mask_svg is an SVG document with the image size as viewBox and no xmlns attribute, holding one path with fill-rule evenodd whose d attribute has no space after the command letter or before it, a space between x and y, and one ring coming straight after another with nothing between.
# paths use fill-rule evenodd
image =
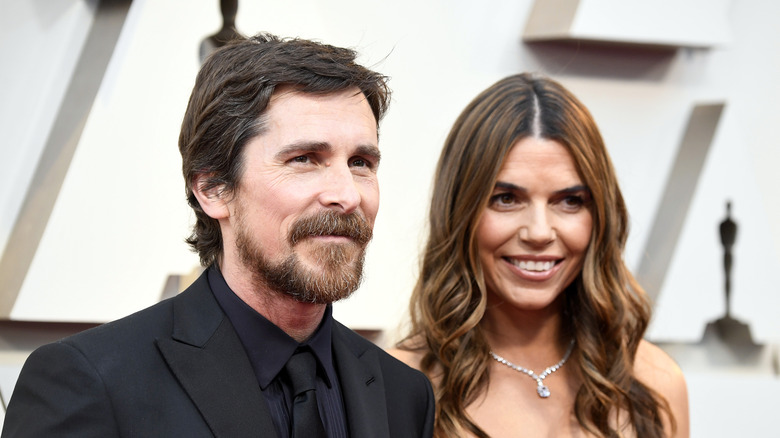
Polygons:
<instances>
[{"instance_id":1,"label":"bearded man's face, gazing toward the right","mask_svg":"<svg viewBox=\"0 0 780 438\"><path fill-rule=\"evenodd\" d=\"M257 287L331 303L360 284L379 208L376 120L357 89L281 90L244 150L230 204L242 269Z\"/></svg>"}]
</instances>

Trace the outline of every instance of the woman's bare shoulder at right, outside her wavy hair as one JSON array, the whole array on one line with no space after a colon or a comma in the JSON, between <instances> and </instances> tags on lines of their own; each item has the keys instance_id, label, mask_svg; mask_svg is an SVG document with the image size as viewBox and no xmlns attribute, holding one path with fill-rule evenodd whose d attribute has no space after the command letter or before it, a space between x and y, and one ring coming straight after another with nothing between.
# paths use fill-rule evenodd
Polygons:
<instances>
[{"instance_id":1,"label":"woman's bare shoulder at right, outside her wavy hair","mask_svg":"<svg viewBox=\"0 0 780 438\"><path fill-rule=\"evenodd\" d=\"M634 372L637 379L669 402L677 423L674 436L689 436L688 387L677 362L658 346L643 340L637 348Z\"/></svg>"}]
</instances>

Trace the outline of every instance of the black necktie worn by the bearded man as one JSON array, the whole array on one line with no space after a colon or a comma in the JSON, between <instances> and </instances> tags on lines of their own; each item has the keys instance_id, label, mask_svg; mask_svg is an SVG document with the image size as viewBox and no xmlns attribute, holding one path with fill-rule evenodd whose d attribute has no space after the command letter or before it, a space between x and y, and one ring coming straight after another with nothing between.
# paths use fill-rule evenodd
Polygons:
<instances>
[{"instance_id":1,"label":"black necktie worn by the bearded man","mask_svg":"<svg viewBox=\"0 0 780 438\"><path fill-rule=\"evenodd\" d=\"M317 407L317 360L311 350L296 351L284 369L293 388L292 438L326 438Z\"/></svg>"}]
</instances>

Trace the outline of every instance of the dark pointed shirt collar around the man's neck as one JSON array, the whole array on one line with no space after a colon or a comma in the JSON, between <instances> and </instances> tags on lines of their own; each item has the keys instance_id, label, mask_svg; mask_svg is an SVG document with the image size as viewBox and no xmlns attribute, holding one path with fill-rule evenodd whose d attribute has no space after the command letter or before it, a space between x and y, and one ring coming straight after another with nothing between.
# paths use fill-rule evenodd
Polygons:
<instances>
[{"instance_id":1,"label":"dark pointed shirt collar around the man's neck","mask_svg":"<svg viewBox=\"0 0 780 438\"><path fill-rule=\"evenodd\" d=\"M331 352L333 309L325 309L317 330L305 342L298 343L282 329L252 309L230 289L219 267L212 265L208 272L209 286L220 307L233 324L246 350L260 387L265 389L274 380L299 346L308 345L317 358L319 375L331 387L336 371ZM323 372L324 371L324 372Z\"/></svg>"}]
</instances>

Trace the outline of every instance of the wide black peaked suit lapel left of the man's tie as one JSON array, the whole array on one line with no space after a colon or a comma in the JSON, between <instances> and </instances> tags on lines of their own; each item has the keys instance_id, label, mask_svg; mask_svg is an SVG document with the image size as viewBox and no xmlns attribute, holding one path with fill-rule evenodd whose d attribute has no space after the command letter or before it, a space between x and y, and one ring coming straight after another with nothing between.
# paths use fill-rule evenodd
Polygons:
<instances>
[{"instance_id":1,"label":"wide black peaked suit lapel left of the man's tie","mask_svg":"<svg viewBox=\"0 0 780 438\"><path fill-rule=\"evenodd\" d=\"M173 312L172 337L158 339L157 345L214 436L274 434L252 366L208 287L206 273L174 298Z\"/></svg>"}]
</instances>

